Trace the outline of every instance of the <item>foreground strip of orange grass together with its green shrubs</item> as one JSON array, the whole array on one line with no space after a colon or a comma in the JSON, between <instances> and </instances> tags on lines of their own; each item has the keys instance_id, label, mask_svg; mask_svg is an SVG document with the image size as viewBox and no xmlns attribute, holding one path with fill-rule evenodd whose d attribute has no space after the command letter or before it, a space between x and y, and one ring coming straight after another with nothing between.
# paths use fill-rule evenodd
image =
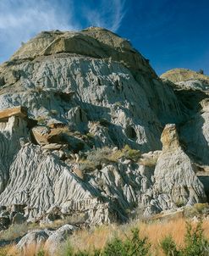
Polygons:
<instances>
[{"instance_id":1,"label":"foreground strip of orange grass together with its green shrubs","mask_svg":"<svg viewBox=\"0 0 209 256\"><path fill-rule=\"evenodd\" d=\"M25 256L47 256L47 251L31 247ZM0 255L22 255L15 246L0 250ZM57 256L207 256L209 220L186 222L155 220L135 221L126 225L108 225L77 231L60 245ZM56 256L56 255L55 255Z\"/></svg>"}]
</instances>

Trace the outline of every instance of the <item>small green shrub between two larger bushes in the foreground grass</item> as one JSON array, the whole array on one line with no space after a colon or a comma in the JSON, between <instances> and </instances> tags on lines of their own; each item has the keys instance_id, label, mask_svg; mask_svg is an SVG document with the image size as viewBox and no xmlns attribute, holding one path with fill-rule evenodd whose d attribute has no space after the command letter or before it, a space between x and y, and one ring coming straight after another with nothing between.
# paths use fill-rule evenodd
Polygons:
<instances>
[{"instance_id":1,"label":"small green shrub between two larger bushes in the foreground grass","mask_svg":"<svg viewBox=\"0 0 209 256\"><path fill-rule=\"evenodd\" d=\"M160 243L163 253L167 256L180 256L176 243L171 236L165 237Z\"/></svg>"}]
</instances>

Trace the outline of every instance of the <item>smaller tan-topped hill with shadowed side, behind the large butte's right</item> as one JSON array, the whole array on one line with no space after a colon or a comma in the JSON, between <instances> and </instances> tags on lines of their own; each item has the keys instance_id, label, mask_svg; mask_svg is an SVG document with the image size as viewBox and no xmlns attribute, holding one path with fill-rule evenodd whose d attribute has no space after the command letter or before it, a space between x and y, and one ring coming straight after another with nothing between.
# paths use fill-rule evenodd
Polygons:
<instances>
[{"instance_id":1,"label":"smaller tan-topped hill with shadowed side, behind the large butte's right","mask_svg":"<svg viewBox=\"0 0 209 256\"><path fill-rule=\"evenodd\" d=\"M171 81L176 95L184 103L186 112L180 124L180 139L190 157L201 165L209 164L209 77L192 70L175 69L161 75Z\"/></svg>"}]
</instances>

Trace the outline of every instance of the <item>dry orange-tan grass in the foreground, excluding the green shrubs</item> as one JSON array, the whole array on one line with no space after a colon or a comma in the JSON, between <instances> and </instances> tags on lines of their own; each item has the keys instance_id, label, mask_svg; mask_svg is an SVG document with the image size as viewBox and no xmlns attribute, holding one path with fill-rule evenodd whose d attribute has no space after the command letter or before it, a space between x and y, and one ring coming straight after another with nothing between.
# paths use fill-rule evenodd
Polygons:
<instances>
[{"instance_id":1,"label":"dry orange-tan grass in the foreground, excluding the green shrubs","mask_svg":"<svg viewBox=\"0 0 209 256\"><path fill-rule=\"evenodd\" d=\"M196 225L193 222L192 225ZM79 250L93 250L94 248L103 248L106 242L111 240L113 237L125 238L129 236L131 229L138 227L140 229L140 237L148 237L148 241L151 243L151 256L162 256L162 250L159 243L164 237L171 235L176 242L178 247L184 246L184 235L186 231L186 223L184 219L176 220L155 220L152 223L145 223L135 221L126 225L103 225L91 230L76 231L73 236L69 237L69 241L63 244L70 244L75 251ZM203 221L204 235L209 239L209 220ZM3 252L0 250L0 256L20 256L15 247L3 248ZM35 255L34 248L28 248L25 256ZM8 252L5 253L5 252ZM47 256L47 253L45 254ZM62 254L58 253L58 256Z\"/></svg>"}]
</instances>

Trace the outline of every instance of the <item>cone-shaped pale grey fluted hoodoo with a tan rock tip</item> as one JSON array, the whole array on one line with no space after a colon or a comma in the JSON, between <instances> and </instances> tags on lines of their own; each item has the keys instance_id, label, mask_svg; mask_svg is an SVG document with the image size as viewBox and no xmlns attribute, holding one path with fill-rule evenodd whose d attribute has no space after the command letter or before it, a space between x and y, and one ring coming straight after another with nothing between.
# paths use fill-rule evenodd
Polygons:
<instances>
[{"instance_id":1,"label":"cone-shaped pale grey fluted hoodoo with a tan rock tip","mask_svg":"<svg viewBox=\"0 0 209 256\"><path fill-rule=\"evenodd\" d=\"M204 187L195 175L195 165L179 145L175 125L166 125L162 132L162 154L155 168L154 189L168 195L177 207L205 203Z\"/></svg>"}]
</instances>

